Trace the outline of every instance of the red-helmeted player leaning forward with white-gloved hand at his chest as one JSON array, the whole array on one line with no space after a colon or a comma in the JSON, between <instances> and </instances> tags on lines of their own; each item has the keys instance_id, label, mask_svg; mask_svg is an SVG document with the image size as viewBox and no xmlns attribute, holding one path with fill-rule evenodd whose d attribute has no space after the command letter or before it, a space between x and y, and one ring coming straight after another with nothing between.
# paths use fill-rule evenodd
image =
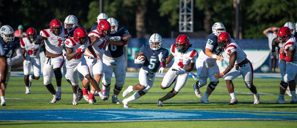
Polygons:
<instances>
[{"instance_id":1,"label":"red-helmeted player leaning forward with white-gloved hand at his chest","mask_svg":"<svg viewBox=\"0 0 297 128\"><path fill-rule=\"evenodd\" d=\"M74 31L73 38L67 38L65 40L66 47L66 68L67 68L67 76L72 84L73 90L73 105L77 105L77 85L79 83L78 80L78 72L80 72L85 79L87 79L92 87L94 87L98 92L103 101L107 98L101 92L101 89L98 83L93 79L93 77L89 73L89 68L86 60L84 59L84 52L88 47L88 50L94 55L93 61L97 61L97 56L93 50L91 45L92 41L90 37L88 37L88 33L83 28L77 28Z\"/></svg>"}]
</instances>

